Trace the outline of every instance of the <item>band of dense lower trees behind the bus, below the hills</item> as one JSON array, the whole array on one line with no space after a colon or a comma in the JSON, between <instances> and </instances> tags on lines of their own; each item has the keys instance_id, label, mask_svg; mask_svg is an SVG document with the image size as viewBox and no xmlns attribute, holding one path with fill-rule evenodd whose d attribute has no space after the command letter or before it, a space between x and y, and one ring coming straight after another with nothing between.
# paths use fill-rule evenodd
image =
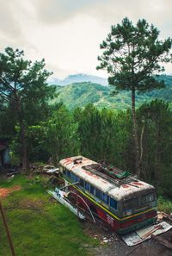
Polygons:
<instances>
[{"instance_id":1,"label":"band of dense lower trees behind the bus, below the hills","mask_svg":"<svg viewBox=\"0 0 172 256\"><path fill-rule=\"evenodd\" d=\"M157 100L145 103L138 108L137 118L143 163L141 178L155 184L160 194L171 197L172 116L168 104ZM9 136L11 160L15 165L20 164L17 133L16 129L15 139L10 140L12 134L1 130L1 134ZM130 110L100 110L89 104L84 109L70 111L58 104L51 109L46 122L27 128L28 160L33 163L52 159L57 164L58 159L82 154L135 172L131 134Z\"/></svg>"}]
</instances>

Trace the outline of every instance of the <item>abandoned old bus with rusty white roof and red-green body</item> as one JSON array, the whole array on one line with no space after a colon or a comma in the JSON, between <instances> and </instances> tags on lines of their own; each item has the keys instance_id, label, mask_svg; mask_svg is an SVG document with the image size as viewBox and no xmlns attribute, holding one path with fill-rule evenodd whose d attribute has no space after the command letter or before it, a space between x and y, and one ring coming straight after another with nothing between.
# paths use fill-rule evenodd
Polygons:
<instances>
[{"instance_id":1,"label":"abandoned old bus with rusty white roof and red-green body","mask_svg":"<svg viewBox=\"0 0 172 256\"><path fill-rule=\"evenodd\" d=\"M128 172L101 165L84 157L59 162L65 185L75 190L78 203L89 209L120 234L156 222L155 188ZM80 200L81 197L83 200Z\"/></svg>"}]
</instances>

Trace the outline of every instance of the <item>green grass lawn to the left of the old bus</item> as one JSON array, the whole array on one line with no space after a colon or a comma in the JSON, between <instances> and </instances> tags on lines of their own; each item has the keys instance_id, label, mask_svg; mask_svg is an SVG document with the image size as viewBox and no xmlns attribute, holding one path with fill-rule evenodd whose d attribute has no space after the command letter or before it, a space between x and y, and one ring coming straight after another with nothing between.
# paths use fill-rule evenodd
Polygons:
<instances>
[{"instance_id":1,"label":"green grass lawn to the left of the old bus","mask_svg":"<svg viewBox=\"0 0 172 256\"><path fill-rule=\"evenodd\" d=\"M98 244L83 231L82 223L47 194L41 182L19 176L0 181L0 187L21 185L3 199L17 256L84 256L83 247ZM0 255L9 256L9 244L0 218Z\"/></svg>"}]
</instances>

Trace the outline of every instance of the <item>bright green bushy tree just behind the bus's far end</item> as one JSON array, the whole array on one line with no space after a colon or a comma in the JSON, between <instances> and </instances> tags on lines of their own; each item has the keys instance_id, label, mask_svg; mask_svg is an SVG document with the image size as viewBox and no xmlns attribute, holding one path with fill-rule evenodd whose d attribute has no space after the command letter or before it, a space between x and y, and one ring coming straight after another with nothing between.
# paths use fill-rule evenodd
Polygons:
<instances>
[{"instance_id":1,"label":"bright green bushy tree just behind the bus's far end","mask_svg":"<svg viewBox=\"0 0 172 256\"><path fill-rule=\"evenodd\" d=\"M59 159L78 154L77 123L64 105L54 111L52 117L44 124L44 134L44 145L54 164L57 165Z\"/></svg>"}]
</instances>

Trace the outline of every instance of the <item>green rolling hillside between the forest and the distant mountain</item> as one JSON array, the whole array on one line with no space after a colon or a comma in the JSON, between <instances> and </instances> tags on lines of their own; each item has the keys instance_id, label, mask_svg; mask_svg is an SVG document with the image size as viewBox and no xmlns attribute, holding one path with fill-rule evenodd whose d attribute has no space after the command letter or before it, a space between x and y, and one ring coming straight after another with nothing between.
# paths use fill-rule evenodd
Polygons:
<instances>
[{"instance_id":1,"label":"green rolling hillside between the forest and the distant mountain","mask_svg":"<svg viewBox=\"0 0 172 256\"><path fill-rule=\"evenodd\" d=\"M150 102L158 98L171 103L172 99L172 76L161 76L159 79L165 81L165 88L147 93L137 94L137 107L142 103ZM93 103L98 108L127 109L131 105L131 94L129 91L120 91L112 95L114 86L102 86L90 82L74 83L66 86L57 86L58 97L52 103L63 102L69 109L84 107Z\"/></svg>"}]
</instances>

